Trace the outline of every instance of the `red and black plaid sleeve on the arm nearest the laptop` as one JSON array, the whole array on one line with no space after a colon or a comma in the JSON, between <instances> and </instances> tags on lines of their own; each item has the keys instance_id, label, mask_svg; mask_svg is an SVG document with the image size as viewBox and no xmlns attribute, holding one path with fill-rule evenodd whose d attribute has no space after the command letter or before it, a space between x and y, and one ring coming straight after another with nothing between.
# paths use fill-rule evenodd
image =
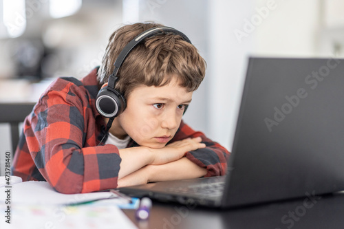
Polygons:
<instances>
[{"instance_id":1,"label":"red and black plaid sleeve on the arm nearest the laptop","mask_svg":"<svg viewBox=\"0 0 344 229\"><path fill-rule=\"evenodd\" d=\"M180 124L174 141L182 140L184 138L202 138L202 143L206 144L206 148L190 151L185 154L185 157L194 162L202 168L206 168L206 175L204 177L213 177L219 175L225 175L227 169L227 159L230 153L217 142L206 138L204 133L200 131L194 131L185 124L183 121Z\"/></svg>"}]
</instances>

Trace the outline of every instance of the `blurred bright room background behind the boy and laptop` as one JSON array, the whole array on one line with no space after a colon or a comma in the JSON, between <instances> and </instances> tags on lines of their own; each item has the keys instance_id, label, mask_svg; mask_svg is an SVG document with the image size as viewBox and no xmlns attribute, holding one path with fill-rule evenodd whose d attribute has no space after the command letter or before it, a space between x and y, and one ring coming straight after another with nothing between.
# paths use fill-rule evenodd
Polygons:
<instances>
[{"instance_id":1,"label":"blurred bright room background behind the boy and laptop","mask_svg":"<svg viewBox=\"0 0 344 229\"><path fill-rule=\"evenodd\" d=\"M249 56L344 55L342 0L0 0L0 102L36 101L54 78L82 78L110 34L138 21L181 30L200 50L206 78L184 120L229 150Z\"/></svg>"}]
</instances>

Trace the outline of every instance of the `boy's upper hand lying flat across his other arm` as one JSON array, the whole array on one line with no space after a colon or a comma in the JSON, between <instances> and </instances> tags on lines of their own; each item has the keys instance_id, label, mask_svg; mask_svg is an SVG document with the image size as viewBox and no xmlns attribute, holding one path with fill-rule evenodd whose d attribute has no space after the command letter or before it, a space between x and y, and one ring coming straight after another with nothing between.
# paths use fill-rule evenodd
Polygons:
<instances>
[{"instance_id":1,"label":"boy's upper hand lying flat across his other arm","mask_svg":"<svg viewBox=\"0 0 344 229\"><path fill-rule=\"evenodd\" d=\"M162 149L149 149L153 154L151 164L166 164L184 157L188 151L195 151L206 147L201 137L186 138L164 146Z\"/></svg>"}]
</instances>

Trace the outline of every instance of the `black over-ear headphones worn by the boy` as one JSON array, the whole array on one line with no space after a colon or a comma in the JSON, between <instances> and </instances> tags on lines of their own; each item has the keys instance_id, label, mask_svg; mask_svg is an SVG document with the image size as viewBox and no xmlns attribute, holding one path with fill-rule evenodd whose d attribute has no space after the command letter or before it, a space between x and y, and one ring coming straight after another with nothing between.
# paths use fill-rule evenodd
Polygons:
<instances>
[{"instance_id":1,"label":"black over-ear headphones worn by the boy","mask_svg":"<svg viewBox=\"0 0 344 229\"><path fill-rule=\"evenodd\" d=\"M105 84L98 92L98 95L96 97L96 109L102 116L104 116L105 118L109 118L110 120L114 120L114 118L116 116L119 116L120 113L122 113L127 107L125 97L120 94L120 92L116 90L115 87L118 80L118 70L120 69L122 63L125 61L125 58L127 58L129 52L131 52L134 47L136 47L147 37L167 32L180 35L182 36L182 39L184 39L184 41L191 43L191 41L185 34L171 27L151 28L138 34L138 36L131 40L120 52L118 58L114 63L114 72L112 72L112 74L109 76L107 84ZM186 107L184 113L185 111Z\"/></svg>"}]
</instances>

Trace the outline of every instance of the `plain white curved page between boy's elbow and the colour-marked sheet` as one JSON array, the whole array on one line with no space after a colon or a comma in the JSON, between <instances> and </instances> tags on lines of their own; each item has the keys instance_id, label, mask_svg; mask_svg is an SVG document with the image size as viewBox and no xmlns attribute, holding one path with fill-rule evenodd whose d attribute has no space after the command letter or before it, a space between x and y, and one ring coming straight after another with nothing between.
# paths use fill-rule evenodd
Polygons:
<instances>
[{"instance_id":1,"label":"plain white curved page between boy's elbow and the colour-marked sheet","mask_svg":"<svg viewBox=\"0 0 344 229\"><path fill-rule=\"evenodd\" d=\"M12 186L12 199L14 204L44 204L44 205L71 205L80 204L97 199L114 198L110 192L62 194L56 192L47 182L22 182ZM1 197L0 197L1 198ZM126 203L126 199L116 197L118 204Z\"/></svg>"}]
</instances>

